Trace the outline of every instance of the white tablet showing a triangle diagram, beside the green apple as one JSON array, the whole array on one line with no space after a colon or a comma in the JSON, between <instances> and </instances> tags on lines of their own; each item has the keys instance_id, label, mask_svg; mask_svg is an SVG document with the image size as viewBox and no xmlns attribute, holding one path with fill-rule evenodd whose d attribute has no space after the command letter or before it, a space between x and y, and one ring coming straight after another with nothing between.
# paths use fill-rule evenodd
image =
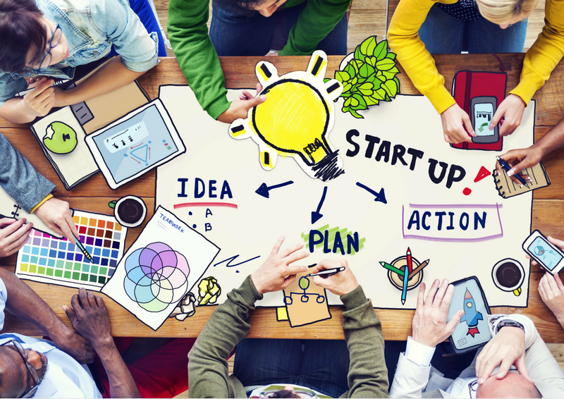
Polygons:
<instances>
[{"instance_id":1,"label":"white tablet showing a triangle diagram, beside the green apple","mask_svg":"<svg viewBox=\"0 0 564 399\"><path fill-rule=\"evenodd\" d=\"M85 141L112 190L186 151L160 99L87 135Z\"/></svg>"}]
</instances>

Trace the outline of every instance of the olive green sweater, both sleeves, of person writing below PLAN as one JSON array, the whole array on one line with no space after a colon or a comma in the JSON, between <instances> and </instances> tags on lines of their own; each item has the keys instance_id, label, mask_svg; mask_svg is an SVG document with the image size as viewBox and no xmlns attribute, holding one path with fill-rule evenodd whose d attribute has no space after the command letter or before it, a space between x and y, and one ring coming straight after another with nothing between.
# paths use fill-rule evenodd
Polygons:
<instances>
[{"instance_id":1,"label":"olive green sweater, both sleeves, of person writing below PLAN","mask_svg":"<svg viewBox=\"0 0 564 399\"><path fill-rule=\"evenodd\" d=\"M250 312L262 295L248 276L227 298L215 309L188 354L190 398L247 398L243 384L228 375L226 358L247 336ZM343 331L350 355L349 391L341 398L388 398L384 335L372 301L360 286L341 296L341 300L347 308L343 312Z\"/></svg>"}]
</instances>

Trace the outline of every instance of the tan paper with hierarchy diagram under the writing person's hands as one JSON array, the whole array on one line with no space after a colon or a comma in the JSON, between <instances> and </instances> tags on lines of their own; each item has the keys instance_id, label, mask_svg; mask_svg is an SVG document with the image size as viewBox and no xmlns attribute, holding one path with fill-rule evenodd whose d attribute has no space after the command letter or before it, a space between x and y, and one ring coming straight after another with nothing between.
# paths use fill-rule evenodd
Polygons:
<instances>
[{"instance_id":1,"label":"tan paper with hierarchy diagram under the writing person's hands","mask_svg":"<svg viewBox=\"0 0 564 399\"><path fill-rule=\"evenodd\" d=\"M308 273L297 274L295 281L283 290L290 327L331 319L325 289L316 286L312 278L306 276ZM277 319L281 320L279 316Z\"/></svg>"}]
</instances>

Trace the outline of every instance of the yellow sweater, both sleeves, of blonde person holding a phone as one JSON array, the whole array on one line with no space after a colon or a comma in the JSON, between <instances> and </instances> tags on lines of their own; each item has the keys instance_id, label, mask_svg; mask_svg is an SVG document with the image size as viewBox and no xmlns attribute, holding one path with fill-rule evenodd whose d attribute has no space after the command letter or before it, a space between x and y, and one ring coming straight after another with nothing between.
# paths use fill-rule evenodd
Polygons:
<instances>
[{"instance_id":1,"label":"yellow sweater, both sleeves, of blonde person holding a phone","mask_svg":"<svg viewBox=\"0 0 564 399\"><path fill-rule=\"evenodd\" d=\"M454 4L456 1L439 2ZM413 85L442 113L455 101L444 86L445 80L436 69L433 57L419 38L419 27L435 3L435 0L401 0L393 13L388 42ZM510 94L521 97L525 104L529 104L564 55L564 0L546 0L544 22L537 41L525 54L519 85L510 91Z\"/></svg>"}]
</instances>

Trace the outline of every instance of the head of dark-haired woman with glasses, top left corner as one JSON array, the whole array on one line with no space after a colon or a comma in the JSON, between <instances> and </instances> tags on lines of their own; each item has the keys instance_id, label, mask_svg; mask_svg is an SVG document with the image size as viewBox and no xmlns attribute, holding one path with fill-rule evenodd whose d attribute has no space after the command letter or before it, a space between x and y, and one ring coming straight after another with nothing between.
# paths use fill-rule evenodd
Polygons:
<instances>
[{"instance_id":1,"label":"head of dark-haired woman with glasses, top left corner","mask_svg":"<svg viewBox=\"0 0 564 399\"><path fill-rule=\"evenodd\" d=\"M49 51L47 65L66 59L68 42L56 28L34 0L0 0L0 70L13 73L22 72L26 66L39 68L42 61L49 61L45 58Z\"/></svg>"}]
</instances>

